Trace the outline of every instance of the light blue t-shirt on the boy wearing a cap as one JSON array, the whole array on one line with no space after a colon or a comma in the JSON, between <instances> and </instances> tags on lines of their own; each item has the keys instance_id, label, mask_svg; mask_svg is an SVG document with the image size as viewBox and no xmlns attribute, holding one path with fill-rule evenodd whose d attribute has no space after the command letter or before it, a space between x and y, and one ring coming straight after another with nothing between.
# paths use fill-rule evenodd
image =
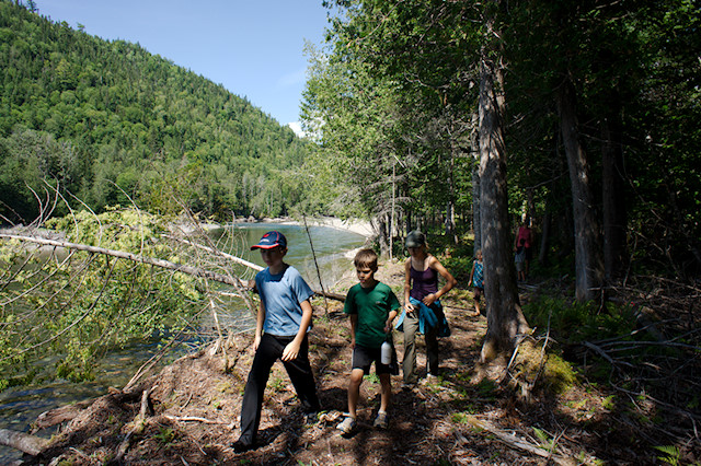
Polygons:
<instances>
[{"instance_id":1,"label":"light blue t-shirt on the boy wearing a cap","mask_svg":"<svg viewBox=\"0 0 701 466\"><path fill-rule=\"evenodd\" d=\"M266 267L256 273L255 286L265 306L263 331L278 337L296 336L302 321L300 303L314 294L299 271L287 266L281 273L272 275Z\"/></svg>"}]
</instances>

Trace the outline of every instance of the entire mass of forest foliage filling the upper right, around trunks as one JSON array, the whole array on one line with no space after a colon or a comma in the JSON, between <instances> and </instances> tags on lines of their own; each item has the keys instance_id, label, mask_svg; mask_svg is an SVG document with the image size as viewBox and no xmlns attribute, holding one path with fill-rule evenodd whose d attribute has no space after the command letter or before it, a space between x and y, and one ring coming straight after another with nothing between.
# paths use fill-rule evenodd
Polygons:
<instances>
[{"instance_id":1,"label":"entire mass of forest foliage filling the upper right, around trunks","mask_svg":"<svg viewBox=\"0 0 701 466\"><path fill-rule=\"evenodd\" d=\"M361 199L365 210L387 215L395 188L391 206L410 228L443 226L451 205L469 215L480 53L498 50L508 68L503 168L510 213L529 212L537 230L548 221L556 266L539 270L536 264L533 270L572 277L575 264L571 174L558 113L565 79L576 94L593 208L624 200L612 223L628 226L619 232L628 242L606 244L631 258L633 272L691 278L701 269L698 255L689 254L701 247L694 165L701 10L694 2L326 3L338 14L329 48L312 54L304 117L317 131L323 170L340 170L332 196L343 196L345 186L345 199ZM485 16L499 33L485 34ZM622 159L614 180L605 176L601 156L612 152ZM612 188L621 195L610 195ZM631 251L622 251L627 244Z\"/></svg>"}]
</instances>

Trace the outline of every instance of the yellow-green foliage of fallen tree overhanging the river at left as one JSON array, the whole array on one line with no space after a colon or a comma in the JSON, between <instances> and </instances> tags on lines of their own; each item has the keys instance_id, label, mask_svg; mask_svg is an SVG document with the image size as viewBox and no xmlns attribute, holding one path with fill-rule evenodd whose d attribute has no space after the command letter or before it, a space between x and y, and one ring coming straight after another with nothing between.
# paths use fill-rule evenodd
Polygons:
<instances>
[{"instance_id":1,"label":"yellow-green foliage of fallen tree overhanging the river at left","mask_svg":"<svg viewBox=\"0 0 701 466\"><path fill-rule=\"evenodd\" d=\"M81 211L46 226L73 243L179 260L156 241L164 231L161 220L145 212ZM27 253L25 244L0 244L9 270L2 277L9 286L0 291L3 386L35 376L90 380L108 350L176 334L200 299L197 281L183 273L84 252ZM53 364L37 365L45 358Z\"/></svg>"}]
</instances>

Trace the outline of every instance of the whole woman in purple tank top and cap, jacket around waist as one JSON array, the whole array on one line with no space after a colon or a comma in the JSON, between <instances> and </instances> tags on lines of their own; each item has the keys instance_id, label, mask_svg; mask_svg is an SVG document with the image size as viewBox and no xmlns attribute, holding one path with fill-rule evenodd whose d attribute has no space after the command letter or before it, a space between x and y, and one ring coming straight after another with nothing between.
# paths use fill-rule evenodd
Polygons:
<instances>
[{"instance_id":1,"label":"whole woman in purple tank top and cap, jacket around waist","mask_svg":"<svg viewBox=\"0 0 701 466\"><path fill-rule=\"evenodd\" d=\"M416 371L416 333L426 339L427 381L438 375L438 336L448 336L447 322L440 305L440 296L456 286L456 279L428 254L426 236L414 230L406 235L405 242L410 257L404 265L404 315L398 327L404 331L404 359L402 388L411 388L418 382ZM438 276L446 283L438 289ZM441 329L446 334L439 335Z\"/></svg>"}]
</instances>

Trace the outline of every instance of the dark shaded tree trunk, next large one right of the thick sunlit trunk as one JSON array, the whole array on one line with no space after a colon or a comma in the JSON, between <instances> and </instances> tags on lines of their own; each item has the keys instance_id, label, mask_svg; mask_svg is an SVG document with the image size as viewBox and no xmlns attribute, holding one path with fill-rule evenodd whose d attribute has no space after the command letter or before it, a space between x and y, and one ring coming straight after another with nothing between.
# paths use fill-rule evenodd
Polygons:
<instances>
[{"instance_id":1,"label":"dark shaded tree trunk, next large one right of the thick sunlit trunk","mask_svg":"<svg viewBox=\"0 0 701 466\"><path fill-rule=\"evenodd\" d=\"M604 264L599 253L599 222L593 205L589 165L579 142L574 86L565 82L558 95L562 139L570 167L574 211L575 294L579 302L593 300L600 291Z\"/></svg>"}]
</instances>

